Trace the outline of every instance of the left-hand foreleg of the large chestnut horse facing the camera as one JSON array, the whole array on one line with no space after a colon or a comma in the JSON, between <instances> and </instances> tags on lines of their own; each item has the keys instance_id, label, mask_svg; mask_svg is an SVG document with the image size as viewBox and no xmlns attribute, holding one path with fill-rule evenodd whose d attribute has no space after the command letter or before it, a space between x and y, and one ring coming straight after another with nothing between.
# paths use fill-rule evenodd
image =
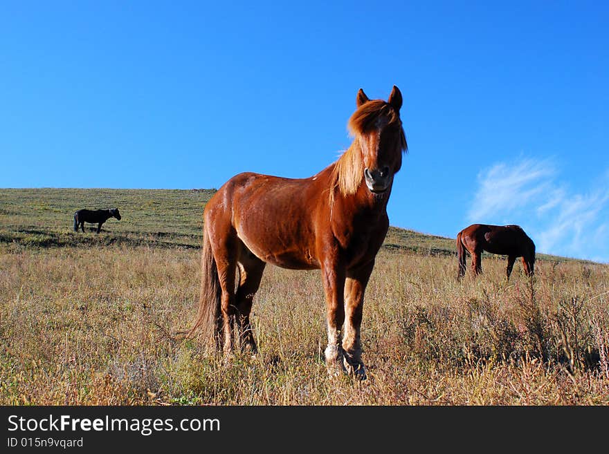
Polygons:
<instances>
[{"instance_id":1,"label":"left-hand foreleg of the large chestnut horse facing the camera","mask_svg":"<svg viewBox=\"0 0 609 454\"><path fill-rule=\"evenodd\" d=\"M345 269L334 263L326 264L322 267L322 281L328 328L328 346L324 352L326 366L330 375L340 375L345 371L341 332L345 322Z\"/></svg>"}]
</instances>

